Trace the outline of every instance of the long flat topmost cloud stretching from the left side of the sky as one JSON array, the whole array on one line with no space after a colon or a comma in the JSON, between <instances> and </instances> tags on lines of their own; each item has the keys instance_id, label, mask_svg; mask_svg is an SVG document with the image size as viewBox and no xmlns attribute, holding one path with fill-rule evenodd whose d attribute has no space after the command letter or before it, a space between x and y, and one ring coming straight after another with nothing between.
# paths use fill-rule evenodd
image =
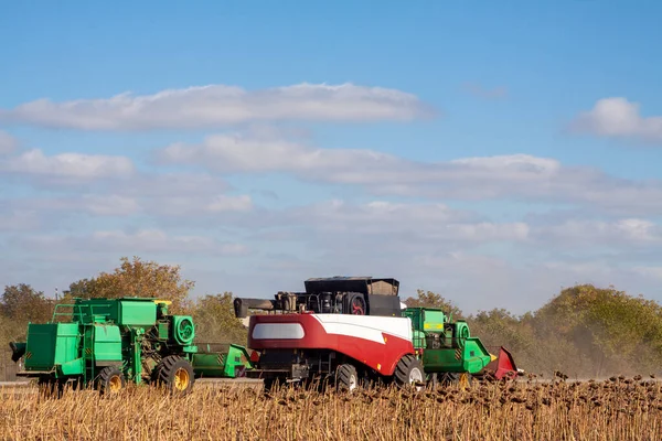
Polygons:
<instances>
[{"instance_id":1,"label":"long flat topmost cloud stretching from the left side of the sky","mask_svg":"<svg viewBox=\"0 0 662 441\"><path fill-rule=\"evenodd\" d=\"M0 121L82 130L203 128L260 120L409 120L433 111L416 96L353 84L299 84L263 90L210 85L0 110Z\"/></svg>"}]
</instances>

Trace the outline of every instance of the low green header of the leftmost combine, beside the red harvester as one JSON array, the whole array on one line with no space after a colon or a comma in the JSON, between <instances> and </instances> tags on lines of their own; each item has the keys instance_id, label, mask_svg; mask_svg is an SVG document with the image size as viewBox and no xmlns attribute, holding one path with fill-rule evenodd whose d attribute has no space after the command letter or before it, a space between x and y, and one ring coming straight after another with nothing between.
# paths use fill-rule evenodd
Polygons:
<instances>
[{"instance_id":1,"label":"low green header of the leftmost combine, beside the red harvester","mask_svg":"<svg viewBox=\"0 0 662 441\"><path fill-rule=\"evenodd\" d=\"M235 378L244 369L250 368L253 364L244 346L231 344L227 352L193 354L193 370L196 376Z\"/></svg>"}]
</instances>

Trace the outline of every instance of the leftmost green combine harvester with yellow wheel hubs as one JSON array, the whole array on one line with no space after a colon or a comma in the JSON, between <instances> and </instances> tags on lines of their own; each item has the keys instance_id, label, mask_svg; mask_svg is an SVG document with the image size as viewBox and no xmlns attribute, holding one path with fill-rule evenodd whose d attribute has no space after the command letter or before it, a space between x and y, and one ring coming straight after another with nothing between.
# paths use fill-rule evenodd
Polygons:
<instances>
[{"instance_id":1,"label":"leftmost green combine harvester with yellow wheel hubs","mask_svg":"<svg viewBox=\"0 0 662 441\"><path fill-rule=\"evenodd\" d=\"M26 342L10 343L12 359L23 359L17 375L36 378L51 392L72 383L108 394L130 381L186 395L195 378L233 378L252 367L243 346L199 351L193 319L169 314L169 304L151 298L58 304L51 322L28 325Z\"/></svg>"}]
</instances>

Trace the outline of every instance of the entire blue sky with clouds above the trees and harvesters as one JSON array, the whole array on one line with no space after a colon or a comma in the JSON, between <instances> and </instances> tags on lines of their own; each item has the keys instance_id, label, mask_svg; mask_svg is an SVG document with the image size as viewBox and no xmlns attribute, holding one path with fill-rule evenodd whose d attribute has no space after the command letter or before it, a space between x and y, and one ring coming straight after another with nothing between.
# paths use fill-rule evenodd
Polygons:
<instances>
[{"instance_id":1,"label":"entire blue sky with clouds above the trees and harvesters","mask_svg":"<svg viewBox=\"0 0 662 441\"><path fill-rule=\"evenodd\" d=\"M662 301L662 4L92 3L0 7L2 284Z\"/></svg>"}]
</instances>

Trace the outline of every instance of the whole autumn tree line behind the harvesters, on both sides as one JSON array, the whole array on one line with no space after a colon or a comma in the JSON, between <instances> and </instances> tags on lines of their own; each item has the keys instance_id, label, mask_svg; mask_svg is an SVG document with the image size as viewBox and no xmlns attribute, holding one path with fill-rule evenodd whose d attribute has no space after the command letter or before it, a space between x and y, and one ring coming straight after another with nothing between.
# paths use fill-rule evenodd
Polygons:
<instances>
[{"instance_id":1,"label":"whole autumn tree line behind the harvesters, on both sides","mask_svg":"<svg viewBox=\"0 0 662 441\"><path fill-rule=\"evenodd\" d=\"M190 314L200 343L246 344L246 329L236 319L233 294L223 292L192 299L194 282L179 266L122 257L113 272L71 283L60 299L46 297L30 284L7 286L0 298L0 345L25 338L26 325L51 320L55 304L73 298L149 297L172 301L171 312ZM662 365L662 306L642 295L613 287L577 284L566 288L536 311L515 315L505 309L465 314L452 301L418 290L405 300L409 306L440 308L453 320L469 323L493 353L505 346L517 367L570 377L655 373ZM9 361L8 352L4 359Z\"/></svg>"}]
</instances>

